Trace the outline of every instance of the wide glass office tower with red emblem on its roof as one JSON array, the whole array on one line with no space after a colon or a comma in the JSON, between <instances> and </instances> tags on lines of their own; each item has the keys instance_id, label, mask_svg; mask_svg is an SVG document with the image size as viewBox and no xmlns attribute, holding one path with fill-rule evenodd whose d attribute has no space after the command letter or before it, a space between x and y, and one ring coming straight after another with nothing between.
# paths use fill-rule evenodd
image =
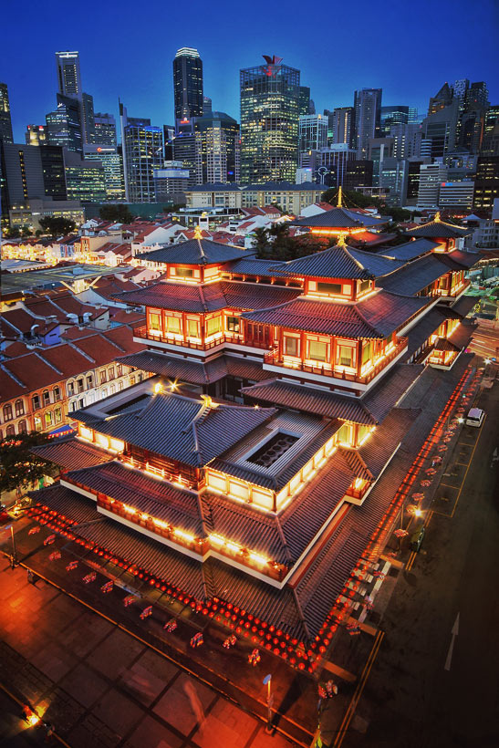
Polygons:
<instances>
[{"instance_id":1,"label":"wide glass office tower with red emblem on its roof","mask_svg":"<svg viewBox=\"0 0 499 748\"><path fill-rule=\"evenodd\" d=\"M241 88L241 180L295 181L300 71L281 57L244 68Z\"/></svg>"}]
</instances>

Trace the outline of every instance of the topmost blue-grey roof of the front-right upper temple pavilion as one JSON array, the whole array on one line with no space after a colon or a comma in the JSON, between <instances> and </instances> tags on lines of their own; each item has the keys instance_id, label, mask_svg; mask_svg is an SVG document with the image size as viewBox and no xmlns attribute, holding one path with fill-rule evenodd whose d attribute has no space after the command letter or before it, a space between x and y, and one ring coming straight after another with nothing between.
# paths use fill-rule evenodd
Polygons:
<instances>
[{"instance_id":1,"label":"topmost blue-grey roof of the front-right upper temple pavilion","mask_svg":"<svg viewBox=\"0 0 499 748\"><path fill-rule=\"evenodd\" d=\"M337 244L314 255L299 257L287 263L275 264L271 270L279 275L318 278L359 278L361 280L388 275L402 263L380 255L374 255L347 244Z\"/></svg>"}]
</instances>

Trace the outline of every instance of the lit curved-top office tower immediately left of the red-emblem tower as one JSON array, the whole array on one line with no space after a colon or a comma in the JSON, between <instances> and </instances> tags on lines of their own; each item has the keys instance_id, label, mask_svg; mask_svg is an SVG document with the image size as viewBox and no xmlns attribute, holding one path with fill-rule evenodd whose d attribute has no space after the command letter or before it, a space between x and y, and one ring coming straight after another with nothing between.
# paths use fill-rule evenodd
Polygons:
<instances>
[{"instance_id":1,"label":"lit curved-top office tower immediately left of the red-emblem tower","mask_svg":"<svg viewBox=\"0 0 499 748\"><path fill-rule=\"evenodd\" d=\"M239 182L239 125L223 111L211 111L194 119L194 130L201 134L203 184Z\"/></svg>"}]
</instances>

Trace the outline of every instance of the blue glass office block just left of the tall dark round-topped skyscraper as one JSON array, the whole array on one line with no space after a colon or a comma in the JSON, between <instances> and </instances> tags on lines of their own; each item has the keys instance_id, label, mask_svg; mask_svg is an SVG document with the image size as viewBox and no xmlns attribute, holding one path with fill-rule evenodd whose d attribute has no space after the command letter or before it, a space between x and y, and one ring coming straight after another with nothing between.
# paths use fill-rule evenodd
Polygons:
<instances>
[{"instance_id":1,"label":"blue glass office block just left of the tall dark round-topped skyscraper","mask_svg":"<svg viewBox=\"0 0 499 748\"><path fill-rule=\"evenodd\" d=\"M154 203L154 170L163 161L163 133L151 119L128 117L120 102L125 194L128 203Z\"/></svg>"}]
</instances>

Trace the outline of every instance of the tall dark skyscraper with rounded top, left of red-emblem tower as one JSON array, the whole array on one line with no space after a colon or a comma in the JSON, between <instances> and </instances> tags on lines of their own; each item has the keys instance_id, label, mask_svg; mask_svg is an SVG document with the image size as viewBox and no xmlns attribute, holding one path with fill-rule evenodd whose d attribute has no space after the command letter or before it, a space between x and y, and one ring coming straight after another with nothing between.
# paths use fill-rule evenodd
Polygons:
<instances>
[{"instance_id":1,"label":"tall dark skyscraper with rounded top, left of red-emblem tower","mask_svg":"<svg viewBox=\"0 0 499 748\"><path fill-rule=\"evenodd\" d=\"M203 115L203 60L197 49L182 47L173 59L175 119Z\"/></svg>"}]
</instances>

